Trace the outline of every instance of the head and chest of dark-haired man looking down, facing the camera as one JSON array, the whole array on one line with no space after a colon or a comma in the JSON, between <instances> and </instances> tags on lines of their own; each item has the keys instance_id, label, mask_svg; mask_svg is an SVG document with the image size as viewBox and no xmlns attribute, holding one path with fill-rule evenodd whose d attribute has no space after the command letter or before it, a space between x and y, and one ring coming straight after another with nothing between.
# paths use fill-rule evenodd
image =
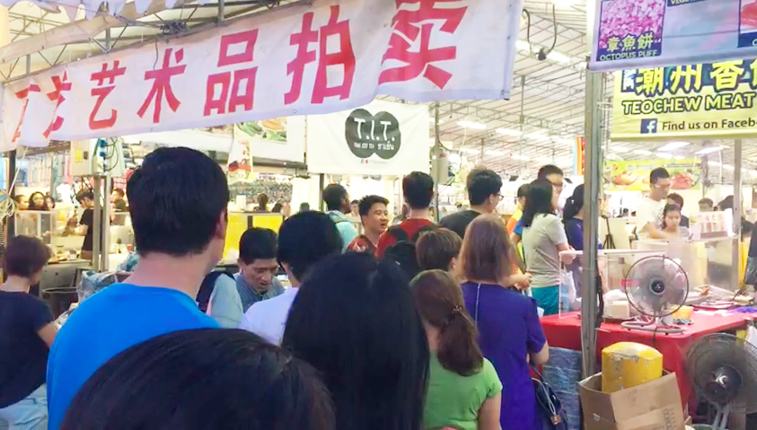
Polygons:
<instances>
[{"instance_id":1,"label":"head and chest of dark-haired man looking down, facing the camera","mask_svg":"<svg viewBox=\"0 0 757 430\"><path fill-rule=\"evenodd\" d=\"M239 240L239 273L234 278L242 299L242 313L253 303L284 293L284 286L276 278L276 241L273 230L257 227L248 229Z\"/></svg>"}]
</instances>

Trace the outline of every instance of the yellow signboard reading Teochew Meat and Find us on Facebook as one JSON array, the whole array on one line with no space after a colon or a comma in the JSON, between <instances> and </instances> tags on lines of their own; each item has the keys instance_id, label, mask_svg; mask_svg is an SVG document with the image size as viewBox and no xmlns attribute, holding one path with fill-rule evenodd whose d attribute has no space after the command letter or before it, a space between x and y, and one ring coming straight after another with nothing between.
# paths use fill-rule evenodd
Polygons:
<instances>
[{"instance_id":1,"label":"yellow signboard reading Teochew Meat and Find us on Facebook","mask_svg":"<svg viewBox=\"0 0 757 430\"><path fill-rule=\"evenodd\" d=\"M757 136L757 60L615 74L612 139Z\"/></svg>"}]
</instances>

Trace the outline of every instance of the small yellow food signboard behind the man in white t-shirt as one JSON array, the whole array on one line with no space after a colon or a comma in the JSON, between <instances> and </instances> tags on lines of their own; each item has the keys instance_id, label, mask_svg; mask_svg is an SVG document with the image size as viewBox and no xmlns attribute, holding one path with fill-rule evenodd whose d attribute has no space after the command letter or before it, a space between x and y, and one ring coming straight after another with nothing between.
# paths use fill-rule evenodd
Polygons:
<instances>
[{"instance_id":1,"label":"small yellow food signboard behind the man in white t-shirt","mask_svg":"<svg viewBox=\"0 0 757 430\"><path fill-rule=\"evenodd\" d=\"M671 189L701 189L701 162L689 160L637 160L605 162L610 173L610 191L648 191L649 173L665 167L672 180Z\"/></svg>"}]
</instances>

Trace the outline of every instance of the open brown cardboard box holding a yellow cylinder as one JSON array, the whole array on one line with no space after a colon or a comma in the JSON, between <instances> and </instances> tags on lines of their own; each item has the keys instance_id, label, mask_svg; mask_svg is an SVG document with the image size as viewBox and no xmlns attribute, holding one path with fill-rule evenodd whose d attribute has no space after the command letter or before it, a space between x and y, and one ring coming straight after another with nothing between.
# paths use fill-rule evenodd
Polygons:
<instances>
[{"instance_id":1,"label":"open brown cardboard box holding a yellow cylinder","mask_svg":"<svg viewBox=\"0 0 757 430\"><path fill-rule=\"evenodd\" d=\"M626 390L602 392L602 373L579 382L585 430L685 430L675 373Z\"/></svg>"}]
</instances>

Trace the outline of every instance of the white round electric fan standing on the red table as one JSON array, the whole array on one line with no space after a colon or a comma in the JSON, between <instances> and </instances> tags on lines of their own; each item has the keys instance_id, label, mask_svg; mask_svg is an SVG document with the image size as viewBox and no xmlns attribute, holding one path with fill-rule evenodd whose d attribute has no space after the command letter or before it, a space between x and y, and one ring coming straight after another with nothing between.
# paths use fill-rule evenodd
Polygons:
<instances>
[{"instance_id":1,"label":"white round electric fan standing on the red table","mask_svg":"<svg viewBox=\"0 0 757 430\"><path fill-rule=\"evenodd\" d=\"M664 256L638 259L626 273L624 285L629 303L641 315L623 322L623 327L660 333L683 331L665 321L681 308L689 294L689 278L681 265Z\"/></svg>"}]
</instances>

